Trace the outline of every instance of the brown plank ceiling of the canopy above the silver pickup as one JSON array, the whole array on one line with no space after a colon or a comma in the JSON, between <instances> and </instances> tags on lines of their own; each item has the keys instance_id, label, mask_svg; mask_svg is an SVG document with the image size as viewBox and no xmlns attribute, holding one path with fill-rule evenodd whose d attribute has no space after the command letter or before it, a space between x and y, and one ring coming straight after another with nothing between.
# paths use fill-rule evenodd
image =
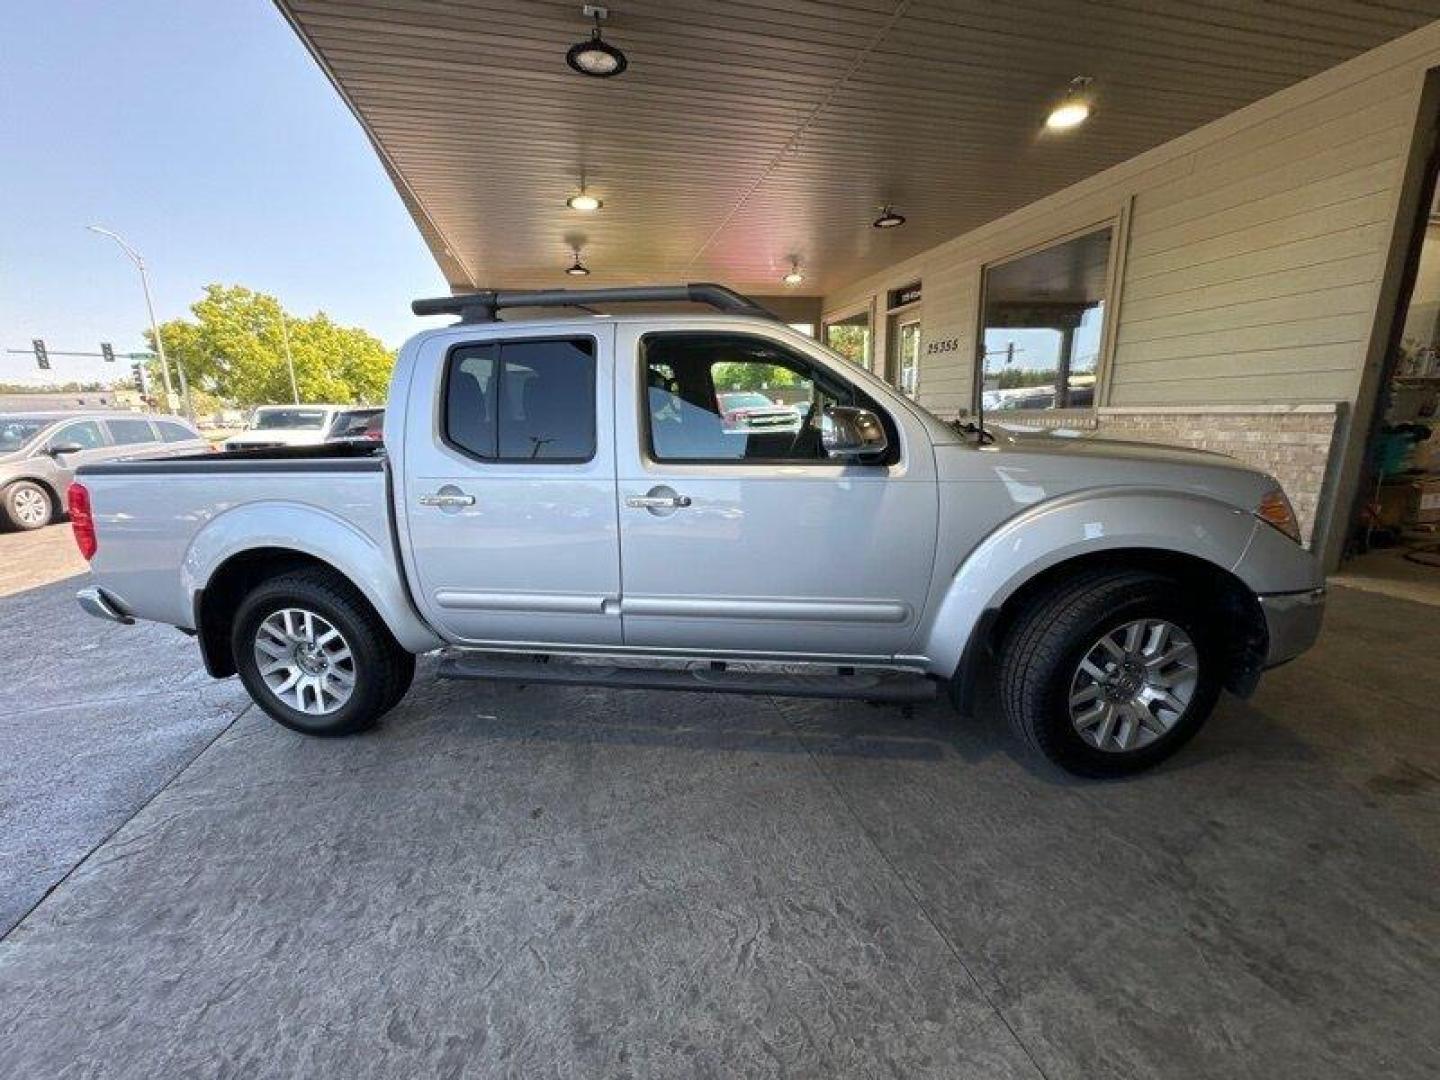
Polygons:
<instances>
[{"instance_id":1,"label":"brown plank ceiling of the canopy above the silver pickup","mask_svg":"<svg viewBox=\"0 0 1440 1080\"><path fill-rule=\"evenodd\" d=\"M278 0L451 285L824 294L1440 17L1359 0ZM1045 114L1077 75L1096 114ZM569 210L580 177L605 200ZM909 222L870 228L891 203Z\"/></svg>"}]
</instances>

